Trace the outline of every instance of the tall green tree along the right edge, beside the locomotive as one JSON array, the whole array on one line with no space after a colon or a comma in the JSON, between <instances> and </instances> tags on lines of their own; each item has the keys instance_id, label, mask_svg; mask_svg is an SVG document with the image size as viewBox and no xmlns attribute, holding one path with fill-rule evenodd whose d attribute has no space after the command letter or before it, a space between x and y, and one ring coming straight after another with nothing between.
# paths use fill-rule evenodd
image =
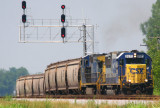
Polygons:
<instances>
[{"instance_id":1,"label":"tall green tree along the right edge, beside the locomotive","mask_svg":"<svg viewBox=\"0 0 160 108\"><path fill-rule=\"evenodd\" d=\"M141 24L147 45L147 54L152 58L155 91L160 91L160 0L152 6L152 16ZM158 38L159 37L159 38Z\"/></svg>"}]
</instances>

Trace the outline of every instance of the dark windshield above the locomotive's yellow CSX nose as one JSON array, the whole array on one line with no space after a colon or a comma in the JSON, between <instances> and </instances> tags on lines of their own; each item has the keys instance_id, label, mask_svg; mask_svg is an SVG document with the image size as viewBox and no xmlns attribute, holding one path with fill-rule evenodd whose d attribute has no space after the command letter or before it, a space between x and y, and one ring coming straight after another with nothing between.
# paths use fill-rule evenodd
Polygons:
<instances>
[{"instance_id":1,"label":"dark windshield above the locomotive's yellow CSX nose","mask_svg":"<svg viewBox=\"0 0 160 108\"><path fill-rule=\"evenodd\" d=\"M126 64L144 64L143 58L126 58Z\"/></svg>"}]
</instances>

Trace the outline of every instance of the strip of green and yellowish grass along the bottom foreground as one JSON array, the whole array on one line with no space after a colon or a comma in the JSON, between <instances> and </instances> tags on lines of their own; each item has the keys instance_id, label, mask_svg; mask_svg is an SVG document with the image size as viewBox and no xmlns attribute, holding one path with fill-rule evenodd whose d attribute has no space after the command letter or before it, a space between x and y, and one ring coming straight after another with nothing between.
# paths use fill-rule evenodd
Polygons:
<instances>
[{"instance_id":1,"label":"strip of green and yellowish grass along the bottom foreground","mask_svg":"<svg viewBox=\"0 0 160 108\"><path fill-rule=\"evenodd\" d=\"M88 101L86 104L73 104L69 102L53 102L53 101L17 101L10 96L0 99L0 108L160 108L160 102L154 104L134 104L129 103L126 105L118 106L116 104L109 105L108 103L96 104L94 100Z\"/></svg>"}]
</instances>

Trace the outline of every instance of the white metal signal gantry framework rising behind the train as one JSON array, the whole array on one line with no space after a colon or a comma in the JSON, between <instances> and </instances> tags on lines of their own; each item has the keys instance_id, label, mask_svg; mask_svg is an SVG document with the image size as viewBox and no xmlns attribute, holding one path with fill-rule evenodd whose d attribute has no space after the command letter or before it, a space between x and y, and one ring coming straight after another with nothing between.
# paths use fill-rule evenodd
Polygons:
<instances>
[{"instance_id":1,"label":"white metal signal gantry framework rising behind the train","mask_svg":"<svg viewBox=\"0 0 160 108\"><path fill-rule=\"evenodd\" d=\"M83 43L84 56L94 53L94 25L88 19L67 19L65 38L61 37L61 20L28 19L19 26L20 43Z\"/></svg>"}]
</instances>

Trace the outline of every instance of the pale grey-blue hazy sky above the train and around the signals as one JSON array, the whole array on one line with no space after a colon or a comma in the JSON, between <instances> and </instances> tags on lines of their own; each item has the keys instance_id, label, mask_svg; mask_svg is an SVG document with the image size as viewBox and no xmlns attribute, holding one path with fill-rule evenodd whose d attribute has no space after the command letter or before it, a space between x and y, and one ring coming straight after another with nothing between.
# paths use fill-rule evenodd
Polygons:
<instances>
[{"instance_id":1,"label":"pale grey-blue hazy sky above the train and around the signals","mask_svg":"<svg viewBox=\"0 0 160 108\"><path fill-rule=\"evenodd\" d=\"M47 65L78 58L82 44L19 43L21 0L0 0L0 68L25 67L31 74L44 72ZM26 0L33 19L58 19L61 5L74 19L90 19L95 28L95 52L146 51L140 24L151 16L156 0Z\"/></svg>"}]
</instances>

